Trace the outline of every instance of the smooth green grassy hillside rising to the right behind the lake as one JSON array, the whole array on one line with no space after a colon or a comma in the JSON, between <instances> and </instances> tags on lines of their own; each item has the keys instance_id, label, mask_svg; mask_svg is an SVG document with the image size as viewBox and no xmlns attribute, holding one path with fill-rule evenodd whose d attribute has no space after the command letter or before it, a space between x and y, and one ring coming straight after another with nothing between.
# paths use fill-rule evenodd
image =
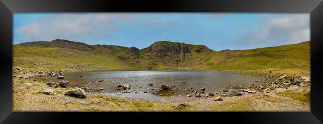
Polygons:
<instances>
[{"instance_id":1,"label":"smooth green grassy hillside rising to the right behind the lake","mask_svg":"<svg viewBox=\"0 0 323 124\"><path fill-rule=\"evenodd\" d=\"M310 75L310 41L252 50L219 51L208 60L208 68L263 75ZM271 73L269 73L271 71Z\"/></svg>"}]
</instances>

